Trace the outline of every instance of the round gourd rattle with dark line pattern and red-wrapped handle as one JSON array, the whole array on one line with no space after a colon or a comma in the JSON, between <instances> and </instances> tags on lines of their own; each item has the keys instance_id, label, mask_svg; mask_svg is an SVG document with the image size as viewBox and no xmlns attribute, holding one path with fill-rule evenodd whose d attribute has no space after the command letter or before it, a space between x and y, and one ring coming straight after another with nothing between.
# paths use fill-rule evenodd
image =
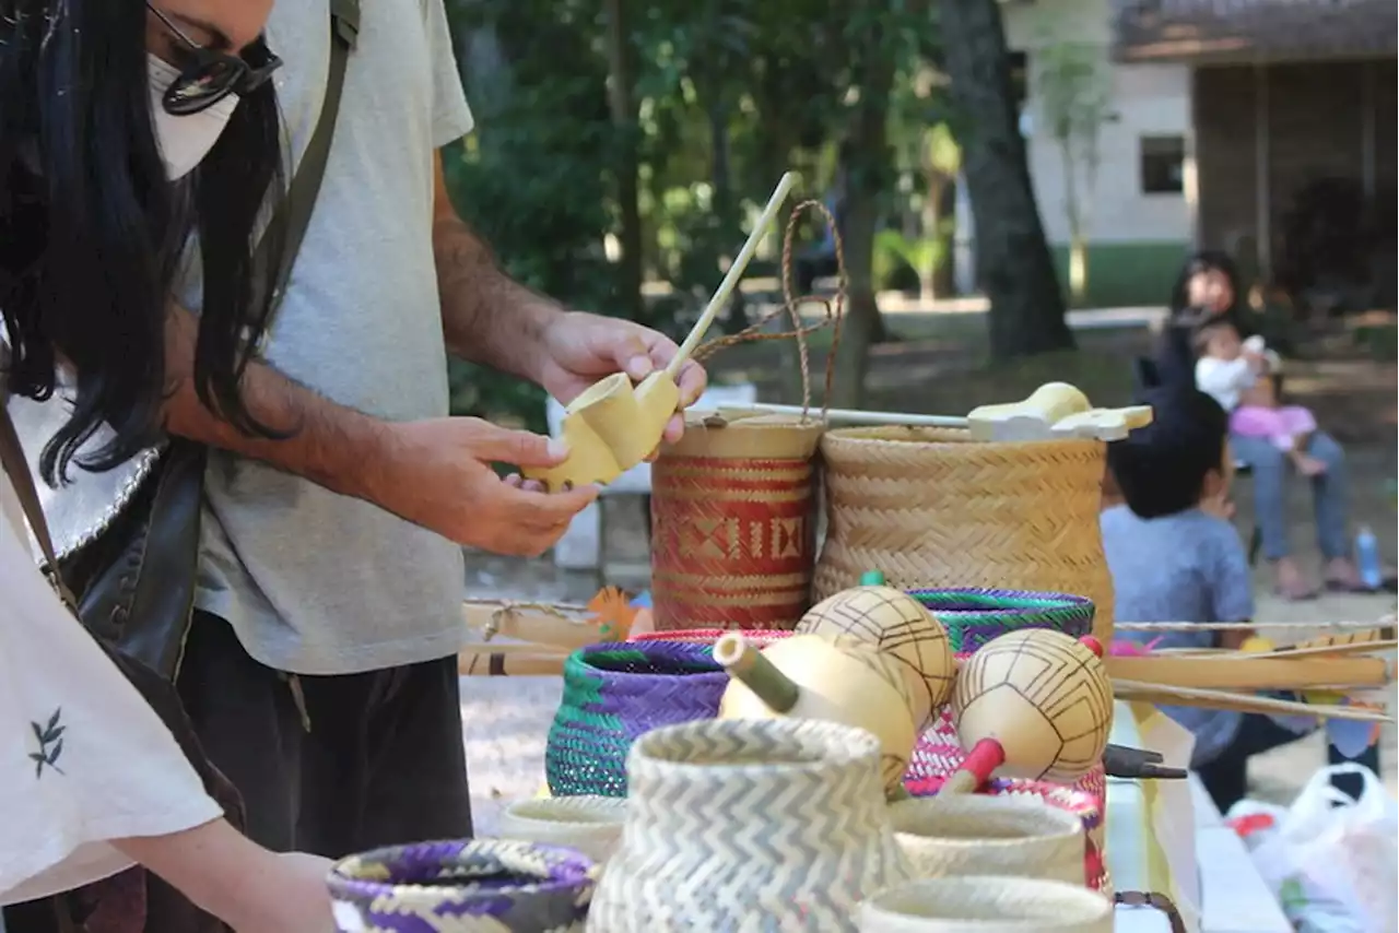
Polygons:
<instances>
[{"instance_id":1,"label":"round gourd rattle with dark line pattern and red-wrapped handle","mask_svg":"<svg viewBox=\"0 0 1399 933\"><path fill-rule=\"evenodd\" d=\"M997 768L1073 783L1102 761L1112 727L1102 645L1048 628L988 642L957 674L953 722L967 760L942 793L971 793Z\"/></svg>"}]
</instances>

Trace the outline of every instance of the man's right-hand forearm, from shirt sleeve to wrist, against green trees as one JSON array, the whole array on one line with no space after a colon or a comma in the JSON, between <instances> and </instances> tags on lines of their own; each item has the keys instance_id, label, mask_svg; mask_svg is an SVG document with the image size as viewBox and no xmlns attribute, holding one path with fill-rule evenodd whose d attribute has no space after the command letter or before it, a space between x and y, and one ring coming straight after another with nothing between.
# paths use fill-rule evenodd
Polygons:
<instances>
[{"instance_id":1,"label":"man's right-hand forearm, from shirt sleeve to wrist, against green trees","mask_svg":"<svg viewBox=\"0 0 1399 933\"><path fill-rule=\"evenodd\" d=\"M522 379L539 379L539 344L557 304L520 285L452 211L432 225L448 351Z\"/></svg>"}]
</instances>

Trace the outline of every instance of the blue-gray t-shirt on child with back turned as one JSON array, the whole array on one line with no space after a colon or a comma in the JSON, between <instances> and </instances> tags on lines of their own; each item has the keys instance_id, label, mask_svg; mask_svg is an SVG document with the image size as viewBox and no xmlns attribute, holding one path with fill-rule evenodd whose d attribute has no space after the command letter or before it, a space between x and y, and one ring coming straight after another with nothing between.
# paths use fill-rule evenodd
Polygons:
<instances>
[{"instance_id":1,"label":"blue-gray t-shirt on child with back turned","mask_svg":"<svg viewBox=\"0 0 1399 933\"><path fill-rule=\"evenodd\" d=\"M1238 532L1199 509L1158 519L1125 505L1105 509L1102 548L1112 571L1116 618L1123 622L1247 622L1254 618L1254 581ZM1158 648L1210 648L1216 632L1122 632ZM1242 713L1163 706L1195 733L1191 767L1209 764L1238 734Z\"/></svg>"}]
</instances>

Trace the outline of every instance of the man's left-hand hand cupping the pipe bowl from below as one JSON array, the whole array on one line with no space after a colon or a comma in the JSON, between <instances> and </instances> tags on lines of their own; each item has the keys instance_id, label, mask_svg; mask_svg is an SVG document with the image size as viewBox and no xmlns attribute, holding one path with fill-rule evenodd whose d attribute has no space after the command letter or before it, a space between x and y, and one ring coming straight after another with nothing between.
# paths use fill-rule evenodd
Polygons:
<instances>
[{"instance_id":1,"label":"man's left-hand hand cupping the pipe bowl from below","mask_svg":"<svg viewBox=\"0 0 1399 933\"><path fill-rule=\"evenodd\" d=\"M495 554L539 557L597 498L597 487L541 492L518 478L502 480L491 463L557 466L567 448L478 418L432 418L385 425L388 462L368 497L457 544Z\"/></svg>"}]
</instances>

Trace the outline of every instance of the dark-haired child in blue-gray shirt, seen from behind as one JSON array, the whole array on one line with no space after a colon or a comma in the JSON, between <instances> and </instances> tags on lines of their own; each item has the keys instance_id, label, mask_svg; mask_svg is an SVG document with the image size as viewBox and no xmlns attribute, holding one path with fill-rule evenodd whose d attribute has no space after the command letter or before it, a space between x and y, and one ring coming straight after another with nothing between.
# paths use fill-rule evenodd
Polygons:
<instances>
[{"instance_id":1,"label":"dark-haired child in blue-gray shirt, seen from behind","mask_svg":"<svg viewBox=\"0 0 1399 933\"><path fill-rule=\"evenodd\" d=\"M1248 622L1254 585L1234 526L1217 504L1233 474L1228 415L1198 389L1143 393L1154 421L1108 445L1108 469L1125 499L1100 518L1102 546L1125 622ZM1160 648L1238 648L1251 629L1123 632ZM1300 739L1267 716L1193 706L1161 711L1195 734L1191 768L1227 811L1247 792L1248 760ZM1311 725L1307 726L1311 729Z\"/></svg>"}]
</instances>

